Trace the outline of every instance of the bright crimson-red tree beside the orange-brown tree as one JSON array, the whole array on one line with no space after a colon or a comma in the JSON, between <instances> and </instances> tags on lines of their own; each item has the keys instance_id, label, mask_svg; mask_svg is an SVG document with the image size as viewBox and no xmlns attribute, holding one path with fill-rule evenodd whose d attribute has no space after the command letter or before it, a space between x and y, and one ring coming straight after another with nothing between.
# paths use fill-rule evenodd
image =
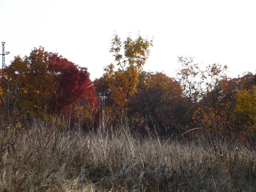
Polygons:
<instances>
[{"instance_id":1,"label":"bright crimson-red tree beside the orange-brown tree","mask_svg":"<svg viewBox=\"0 0 256 192\"><path fill-rule=\"evenodd\" d=\"M89 78L87 68L78 67L62 56L52 54L47 64L52 84L52 112L69 112L78 100L97 104L95 88Z\"/></svg>"}]
</instances>

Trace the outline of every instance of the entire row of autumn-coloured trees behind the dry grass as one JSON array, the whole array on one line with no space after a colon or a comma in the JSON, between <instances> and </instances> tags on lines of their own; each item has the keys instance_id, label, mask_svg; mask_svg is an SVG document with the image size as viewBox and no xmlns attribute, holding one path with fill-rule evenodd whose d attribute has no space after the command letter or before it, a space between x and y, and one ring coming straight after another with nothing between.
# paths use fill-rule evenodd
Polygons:
<instances>
[{"instance_id":1,"label":"entire row of autumn-coloured trees behind the dry grass","mask_svg":"<svg viewBox=\"0 0 256 192\"><path fill-rule=\"evenodd\" d=\"M152 40L113 36L114 63L92 82L81 68L57 53L34 48L1 70L1 120L22 124L40 117L66 119L74 129L117 128L159 136L256 135L256 75L229 78L227 66L200 69L194 58L178 57L175 78L145 72Z\"/></svg>"}]
</instances>

